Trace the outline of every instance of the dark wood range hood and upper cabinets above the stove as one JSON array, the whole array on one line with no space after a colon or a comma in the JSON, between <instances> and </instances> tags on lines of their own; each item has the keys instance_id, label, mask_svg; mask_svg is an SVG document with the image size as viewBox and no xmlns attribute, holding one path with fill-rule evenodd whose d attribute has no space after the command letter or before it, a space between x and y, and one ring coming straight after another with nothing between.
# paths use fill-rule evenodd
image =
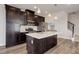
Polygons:
<instances>
[{"instance_id":1,"label":"dark wood range hood and upper cabinets above the stove","mask_svg":"<svg viewBox=\"0 0 79 59\"><path fill-rule=\"evenodd\" d=\"M44 17L39 16L39 15L35 15L34 11L26 9L25 13L26 13L27 24L30 23L30 24L33 24L35 26L39 26L40 22L44 22L45 21Z\"/></svg>"}]
</instances>

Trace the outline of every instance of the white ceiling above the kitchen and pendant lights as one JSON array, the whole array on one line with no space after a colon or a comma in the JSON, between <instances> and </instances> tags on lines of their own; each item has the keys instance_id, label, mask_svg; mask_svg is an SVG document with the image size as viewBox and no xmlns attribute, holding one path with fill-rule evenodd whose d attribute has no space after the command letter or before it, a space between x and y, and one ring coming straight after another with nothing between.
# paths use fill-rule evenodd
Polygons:
<instances>
[{"instance_id":1,"label":"white ceiling above the kitchen and pendant lights","mask_svg":"<svg viewBox=\"0 0 79 59\"><path fill-rule=\"evenodd\" d=\"M67 13L79 11L79 4L9 4L11 6L20 8L21 10L30 9L36 11L34 6L40 8L42 16L47 16L45 11L48 13L55 13L60 11L65 11ZM37 14L37 13L36 13Z\"/></svg>"}]
</instances>

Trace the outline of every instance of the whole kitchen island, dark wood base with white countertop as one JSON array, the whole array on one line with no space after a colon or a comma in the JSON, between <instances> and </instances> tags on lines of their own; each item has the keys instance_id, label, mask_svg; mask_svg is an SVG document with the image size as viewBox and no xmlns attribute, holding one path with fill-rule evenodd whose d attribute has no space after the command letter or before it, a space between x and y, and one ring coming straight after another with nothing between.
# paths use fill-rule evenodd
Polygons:
<instances>
[{"instance_id":1,"label":"whole kitchen island, dark wood base with white countertop","mask_svg":"<svg viewBox=\"0 0 79 59\"><path fill-rule=\"evenodd\" d=\"M26 38L29 54L41 54L57 45L57 32L29 33Z\"/></svg>"}]
</instances>

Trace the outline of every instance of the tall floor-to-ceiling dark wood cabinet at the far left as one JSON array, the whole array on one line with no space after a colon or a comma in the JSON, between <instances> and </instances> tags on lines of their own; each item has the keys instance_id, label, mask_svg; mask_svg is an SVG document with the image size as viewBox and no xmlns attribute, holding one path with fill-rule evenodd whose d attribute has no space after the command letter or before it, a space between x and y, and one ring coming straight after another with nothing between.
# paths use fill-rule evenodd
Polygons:
<instances>
[{"instance_id":1,"label":"tall floor-to-ceiling dark wood cabinet at the far left","mask_svg":"<svg viewBox=\"0 0 79 59\"><path fill-rule=\"evenodd\" d=\"M6 47L15 46L17 34L20 32L20 26L25 24L23 12L16 7L5 5L6 7Z\"/></svg>"}]
</instances>

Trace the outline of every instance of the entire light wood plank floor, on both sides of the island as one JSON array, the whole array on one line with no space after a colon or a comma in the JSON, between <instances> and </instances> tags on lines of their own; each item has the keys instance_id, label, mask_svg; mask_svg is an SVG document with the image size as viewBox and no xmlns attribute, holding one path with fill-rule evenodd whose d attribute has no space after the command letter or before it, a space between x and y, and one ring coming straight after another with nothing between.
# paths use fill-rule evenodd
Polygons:
<instances>
[{"instance_id":1,"label":"entire light wood plank floor, on both sides of the island","mask_svg":"<svg viewBox=\"0 0 79 59\"><path fill-rule=\"evenodd\" d=\"M58 39L58 44L44 54L78 54L79 42L67 39ZM0 54L27 54L26 44L20 44L10 48L0 48Z\"/></svg>"}]
</instances>

